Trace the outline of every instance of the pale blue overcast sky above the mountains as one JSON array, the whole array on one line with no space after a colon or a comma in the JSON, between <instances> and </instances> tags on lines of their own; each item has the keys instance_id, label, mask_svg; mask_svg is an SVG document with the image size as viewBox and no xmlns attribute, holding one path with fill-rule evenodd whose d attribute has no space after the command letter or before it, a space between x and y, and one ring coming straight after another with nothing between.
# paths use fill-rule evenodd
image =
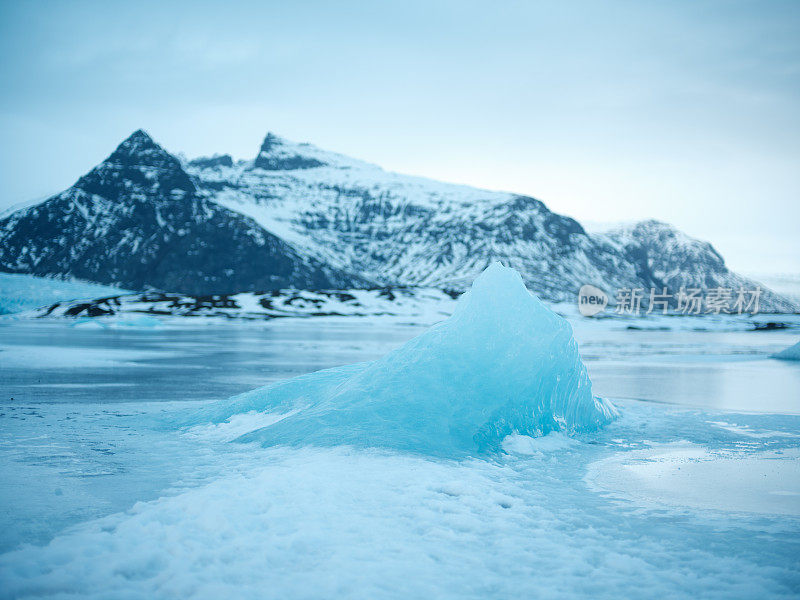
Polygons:
<instances>
[{"instance_id":1,"label":"pale blue overcast sky above the mountains","mask_svg":"<svg viewBox=\"0 0 800 600\"><path fill-rule=\"evenodd\" d=\"M0 0L0 81L0 210L274 131L800 273L800 2Z\"/></svg>"}]
</instances>

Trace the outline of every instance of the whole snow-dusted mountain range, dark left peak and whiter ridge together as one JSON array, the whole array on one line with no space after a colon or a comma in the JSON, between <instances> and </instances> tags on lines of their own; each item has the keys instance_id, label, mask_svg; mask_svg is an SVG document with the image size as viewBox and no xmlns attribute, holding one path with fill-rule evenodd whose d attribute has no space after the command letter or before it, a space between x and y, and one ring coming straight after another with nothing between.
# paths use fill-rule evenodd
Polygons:
<instances>
[{"instance_id":1,"label":"whole snow-dusted mountain range, dark left peak and whiter ridge together","mask_svg":"<svg viewBox=\"0 0 800 600\"><path fill-rule=\"evenodd\" d=\"M757 284L647 222L609 234L506 192L384 171L268 134L253 160L181 163L137 131L72 188L0 220L0 269L210 294L385 285L464 289L501 260L549 300ZM791 311L765 291L762 310Z\"/></svg>"}]
</instances>

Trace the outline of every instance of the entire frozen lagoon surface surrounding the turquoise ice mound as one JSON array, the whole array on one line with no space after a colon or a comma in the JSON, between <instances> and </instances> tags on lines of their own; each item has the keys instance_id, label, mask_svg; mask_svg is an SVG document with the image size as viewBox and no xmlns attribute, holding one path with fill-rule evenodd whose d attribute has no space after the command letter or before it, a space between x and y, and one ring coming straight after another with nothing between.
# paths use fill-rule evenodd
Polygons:
<instances>
[{"instance_id":1,"label":"entire frozen lagoon surface surrounding the turquoise ice mound","mask_svg":"<svg viewBox=\"0 0 800 600\"><path fill-rule=\"evenodd\" d=\"M621 418L448 460L230 443L268 415L165 426L427 323L4 322L0 594L796 596L800 368L768 356L798 330L626 325L574 323Z\"/></svg>"}]
</instances>

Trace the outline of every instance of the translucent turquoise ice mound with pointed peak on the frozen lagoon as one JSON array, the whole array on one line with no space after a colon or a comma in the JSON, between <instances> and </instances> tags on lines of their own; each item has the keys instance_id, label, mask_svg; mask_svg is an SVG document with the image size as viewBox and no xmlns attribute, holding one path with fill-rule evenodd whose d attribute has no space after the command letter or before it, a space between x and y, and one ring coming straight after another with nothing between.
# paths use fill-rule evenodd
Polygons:
<instances>
[{"instance_id":1,"label":"translucent turquoise ice mound with pointed peak on the frozen lagoon","mask_svg":"<svg viewBox=\"0 0 800 600\"><path fill-rule=\"evenodd\" d=\"M438 456L500 450L510 434L592 431L615 409L592 396L569 323L492 264L453 315L372 363L260 388L204 414L291 413L239 438L386 447Z\"/></svg>"}]
</instances>

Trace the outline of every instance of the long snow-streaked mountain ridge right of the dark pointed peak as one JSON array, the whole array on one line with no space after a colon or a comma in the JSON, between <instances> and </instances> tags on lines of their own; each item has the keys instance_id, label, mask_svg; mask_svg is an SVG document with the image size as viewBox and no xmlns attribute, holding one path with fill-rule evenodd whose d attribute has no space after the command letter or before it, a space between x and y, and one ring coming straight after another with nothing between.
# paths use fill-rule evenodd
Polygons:
<instances>
[{"instance_id":1,"label":"long snow-streaked mountain ridge right of the dark pointed peak","mask_svg":"<svg viewBox=\"0 0 800 600\"><path fill-rule=\"evenodd\" d=\"M254 161L187 165L204 197L249 216L302 252L381 284L464 289L493 260L550 300L584 283L703 289L757 283L706 242L648 221L588 234L539 200L390 173L268 134ZM796 307L764 291L762 308Z\"/></svg>"}]
</instances>

